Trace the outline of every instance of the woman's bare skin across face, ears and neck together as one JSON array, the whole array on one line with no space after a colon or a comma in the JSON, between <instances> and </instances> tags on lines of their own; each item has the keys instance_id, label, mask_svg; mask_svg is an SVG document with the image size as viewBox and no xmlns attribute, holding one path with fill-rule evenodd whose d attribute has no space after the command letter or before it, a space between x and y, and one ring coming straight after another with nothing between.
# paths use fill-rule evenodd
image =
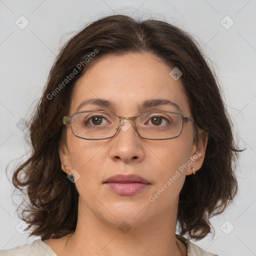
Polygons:
<instances>
[{"instance_id":1,"label":"woman's bare skin across face, ears and neck together","mask_svg":"<svg viewBox=\"0 0 256 256\"><path fill-rule=\"evenodd\" d=\"M150 53L103 56L77 80L69 113L84 99L97 97L113 101L115 107L88 105L80 111L105 110L123 116L177 111L169 105L137 109L141 101L162 98L177 103L182 114L191 116L181 79L172 79L171 69ZM64 172L75 169L80 175L75 182L79 193L77 227L71 236L45 243L57 255L186 255L185 245L175 238L178 194L186 175L192 173L191 166L195 171L201 167L207 138L193 143L192 122L184 123L178 137L167 140L140 138L132 126L120 129L110 139L85 140L66 127L67 146L59 147L59 157ZM150 202L149 196L193 155L197 157L191 166ZM102 184L118 173L138 174L150 185L132 196L118 195ZM118 228L123 221L130 227L126 233Z\"/></svg>"}]
</instances>

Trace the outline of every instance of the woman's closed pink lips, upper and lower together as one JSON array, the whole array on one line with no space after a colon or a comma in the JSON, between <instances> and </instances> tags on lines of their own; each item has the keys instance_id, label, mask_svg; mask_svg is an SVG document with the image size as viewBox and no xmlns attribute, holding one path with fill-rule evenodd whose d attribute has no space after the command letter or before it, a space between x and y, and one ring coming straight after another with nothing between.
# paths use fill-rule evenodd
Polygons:
<instances>
[{"instance_id":1,"label":"woman's closed pink lips, upper and lower together","mask_svg":"<svg viewBox=\"0 0 256 256\"><path fill-rule=\"evenodd\" d=\"M150 183L136 174L117 174L103 182L119 195L133 195L150 185Z\"/></svg>"}]
</instances>

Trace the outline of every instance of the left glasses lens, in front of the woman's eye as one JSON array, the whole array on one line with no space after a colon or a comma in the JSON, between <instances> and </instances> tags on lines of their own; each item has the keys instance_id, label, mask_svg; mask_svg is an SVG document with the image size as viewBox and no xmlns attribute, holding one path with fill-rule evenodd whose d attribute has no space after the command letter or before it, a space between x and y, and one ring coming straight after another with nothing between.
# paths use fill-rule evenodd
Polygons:
<instances>
[{"instance_id":1,"label":"left glasses lens, in front of the woman's eye","mask_svg":"<svg viewBox=\"0 0 256 256\"><path fill-rule=\"evenodd\" d=\"M79 137L102 139L113 136L118 123L119 118L114 114L79 112L72 116L71 128Z\"/></svg>"}]
</instances>

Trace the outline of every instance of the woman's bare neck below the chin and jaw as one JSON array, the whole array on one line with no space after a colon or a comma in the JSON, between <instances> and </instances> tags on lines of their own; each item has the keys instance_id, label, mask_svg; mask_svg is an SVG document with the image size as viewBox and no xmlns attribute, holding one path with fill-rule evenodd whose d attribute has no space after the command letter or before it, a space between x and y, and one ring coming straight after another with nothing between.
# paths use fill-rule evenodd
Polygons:
<instances>
[{"instance_id":1,"label":"woman's bare neck below the chin and jaw","mask_svg":"<svg viewBox=\"0 0 256 256\"><path fill-rule=\"evenodd\" d=\"M76 230L66 236L64 255L186 255L185 245L175 238L177 204L173 208L142 224L115 225L80 204Z\"/></svg>"}]
</instances>

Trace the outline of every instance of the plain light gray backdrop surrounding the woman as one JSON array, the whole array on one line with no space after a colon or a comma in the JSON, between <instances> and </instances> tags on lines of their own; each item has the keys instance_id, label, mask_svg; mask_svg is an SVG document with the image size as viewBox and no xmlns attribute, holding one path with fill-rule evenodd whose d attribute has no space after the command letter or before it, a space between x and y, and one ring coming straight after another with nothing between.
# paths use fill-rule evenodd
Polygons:
<instances>
[{"instance_id":1,"label":"plain light gray backdrop surrounding the woman","mask_svg":"<svg viewBox=\"0 0 256 256\"><path fill-rule=\"evenodd\" d=\"M128 14L183 28L212 60L236 124L237 140L247 149L240 154L234 204L212 219L215 236L196 244L223 256L256 255L255 11L255 0L0 0L0 249L32 241L18 232L24 224L14 213L13 187L5 168L26 152L23 132L16 124L41 95L59 45L88 21ZM15 24L16 20L20 26L25 24L22 15L29 21L24 29ZM234 24L226 29L223 25L229 27L232 20Z\"/></svg>"}]
</instances>

